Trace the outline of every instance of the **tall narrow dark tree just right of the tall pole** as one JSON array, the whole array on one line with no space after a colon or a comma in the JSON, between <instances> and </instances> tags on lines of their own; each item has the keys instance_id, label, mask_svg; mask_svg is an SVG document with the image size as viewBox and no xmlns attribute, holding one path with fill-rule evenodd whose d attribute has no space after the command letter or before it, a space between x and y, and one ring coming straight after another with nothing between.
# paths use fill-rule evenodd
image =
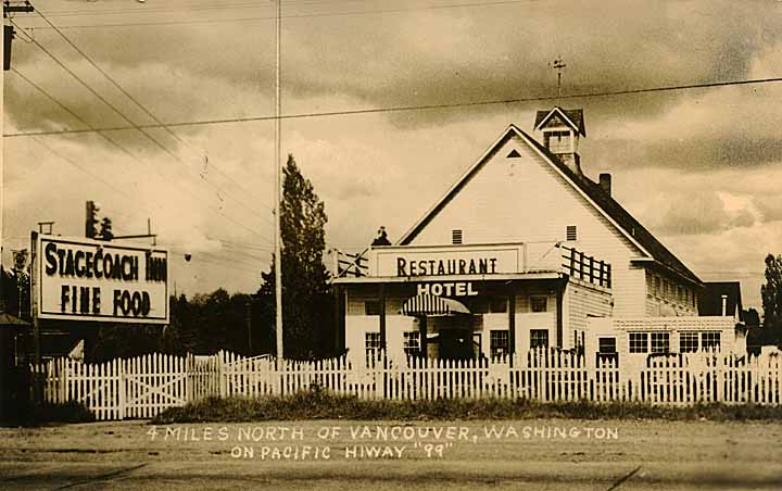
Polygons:
<instances>
[{"instance_id":1,"label":"tall narrow dark tree just right of the tall pole","mask_svg":"<svg viewBox=\"0 0 782 491\"><path fill-rule=\"evenodd\" d=\"M282 263L282 322L286 357L323 356L329 352L331 301L329 275L323 262L324 227L328 217L312 182L288 155L283 169L280 235ZM258 295L274 313L275 266L262 274ZM274 315L270 316L274 318Z\"/></svg>"}]
</instances>

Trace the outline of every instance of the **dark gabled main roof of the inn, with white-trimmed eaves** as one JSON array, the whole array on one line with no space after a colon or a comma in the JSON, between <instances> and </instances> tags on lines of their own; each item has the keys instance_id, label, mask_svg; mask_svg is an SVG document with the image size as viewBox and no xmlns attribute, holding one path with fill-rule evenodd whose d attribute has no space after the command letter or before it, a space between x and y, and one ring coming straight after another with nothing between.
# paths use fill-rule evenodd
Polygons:
<instances>
[{"instance_id":1,"label":"dark gabled main roof of the inn, with white-trimmed eaves","mask_svg":"<svg viewBox=\"0 0 782 491\"><path fill-rule=\"evenodd\" d=\"M614 198L603 191L603 189L584 175L577 175L570 169L558 156L553 154L548 149L539 143L534 138L520 130L515 125L508 126L503 135L490 147L490 149L476 162L462 177L454 184L451 189L421 217L404 236L398 241L400 246L406 246L431 222L440 211L464 188L469 179L489 161L491 155L495 153L508 139L518 136L530 147L538 151L544 160L554 168L564 175L565 179L570 182L577 191L592 202L594 206L603 213L603 215L613 223L625 237L635 244L641 251L654 260L655 263L666 269L672 270L681 277L692 281L698 286L703 281L688 268L672 252L668 250L652 232L649 232L641 223L639 223L627 210L622 207Z\"/></svg>"}]
</instances>

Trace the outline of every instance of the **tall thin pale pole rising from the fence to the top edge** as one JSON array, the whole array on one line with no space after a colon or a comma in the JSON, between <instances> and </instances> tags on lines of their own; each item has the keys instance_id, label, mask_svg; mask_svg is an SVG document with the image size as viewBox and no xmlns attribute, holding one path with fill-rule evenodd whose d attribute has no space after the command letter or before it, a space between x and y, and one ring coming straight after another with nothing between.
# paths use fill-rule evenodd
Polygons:
<instances>
[{"instance_id":1,"label":"tall thin pale pole rising from the fence to the top edge","mask_svg":"<svg viewBox=\"0 0 782 491\"><path fill-rule=\"evenodd\" d=\"M276 313L276 338L277 338L277 363L278 369L281 365L285 354L282 347L282 232L281 232L281 214L282 214L282 169L280 162L281 156L281 97L280 97L280 38L282 37L282 0L276 0L275 9L275 313Z\"/></svg>"}]
</instances>

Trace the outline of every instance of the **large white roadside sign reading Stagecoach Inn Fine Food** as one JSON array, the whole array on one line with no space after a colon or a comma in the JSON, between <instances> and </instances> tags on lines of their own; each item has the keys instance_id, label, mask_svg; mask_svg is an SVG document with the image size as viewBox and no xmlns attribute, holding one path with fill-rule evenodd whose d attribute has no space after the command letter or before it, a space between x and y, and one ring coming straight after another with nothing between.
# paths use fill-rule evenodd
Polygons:
<instances>
[{"instance_id":1,"label":"large white roadside sign reading Stagecoach Inn Fine Food","mask_svg":"<svg viewBox=\"0 0 782 491\"><path fill-rule=\"evenodd\" d=\"M168 324L168 251L39 236L38 317Z\"/></svg>"}]
</instances>

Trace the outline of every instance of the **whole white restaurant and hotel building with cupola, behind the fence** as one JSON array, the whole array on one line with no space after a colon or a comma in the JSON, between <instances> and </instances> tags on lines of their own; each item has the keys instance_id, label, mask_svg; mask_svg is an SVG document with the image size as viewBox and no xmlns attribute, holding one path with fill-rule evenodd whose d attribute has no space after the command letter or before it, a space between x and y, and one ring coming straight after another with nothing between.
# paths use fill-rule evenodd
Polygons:
<instances>
[{"instance_id":1,"label":"whole white restaurant and hotel building with cupola, behind the fence","mask_svg":"<svg viewBox=\"0 0 782 491\"><path fill-rule=\"evenodd\" d=\"M704 282L614 200L611 176L584 175L582 111L540 111L532 135L510 125L396 243L338 268L349 354L745 350L733 312L698 316Z\"/></svg>"}]
</instances>

